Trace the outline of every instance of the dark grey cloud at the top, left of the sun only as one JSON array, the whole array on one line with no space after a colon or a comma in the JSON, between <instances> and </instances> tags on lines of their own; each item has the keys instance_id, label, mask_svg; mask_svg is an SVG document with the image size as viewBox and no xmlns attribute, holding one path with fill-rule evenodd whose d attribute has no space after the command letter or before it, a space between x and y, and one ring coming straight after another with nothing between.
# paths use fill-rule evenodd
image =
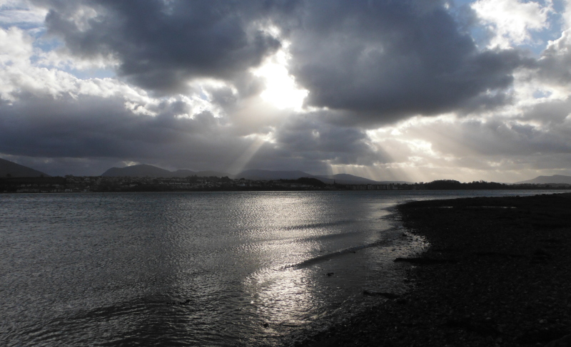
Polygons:
<instances>
[{"instance_id":1,"label":"dark grey cloud at the top, left of the sun only","mask_svg":"<svg viewBox=\"0 0 571 347\"><path fill-rule=\"evenodd\" d=\"M41 4L44 2L41 1ZM79 56L119 59L119 75L143 88L183 90L188 78L228 79L281 43L253 26L271 6L252 1L49 1L46 26ZM76 21L81 6L97 16ZM79 23L79 24L78 24Z\"/></svg>"}]
</instances>

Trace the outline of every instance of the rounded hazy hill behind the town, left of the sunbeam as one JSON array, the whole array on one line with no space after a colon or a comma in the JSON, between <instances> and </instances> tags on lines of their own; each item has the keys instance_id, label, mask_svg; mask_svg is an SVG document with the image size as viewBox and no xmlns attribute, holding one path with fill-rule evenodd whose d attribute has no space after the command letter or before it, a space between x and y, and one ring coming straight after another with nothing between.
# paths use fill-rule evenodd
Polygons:
<instances>
[{"instance_id":1,"label":"rounded hazy hill behind the town, left of the sunbeam","mask_svg":"<svg viewBox=\"0 0 571 347\"><path fill-rule=\"evenodd\" d=\"M224 172L216 172L216 171L192 171L192 170L176 170L176 171L168 171L165 169L161 169L161 167L156 167L153 165L131 165L127 167L111 167L111 169L103 172L101 176L108 176L108 177L188 177L188 176L198 176L198 177L224 177L228 176L227 173Z\"/></svg>"}]
</instances>

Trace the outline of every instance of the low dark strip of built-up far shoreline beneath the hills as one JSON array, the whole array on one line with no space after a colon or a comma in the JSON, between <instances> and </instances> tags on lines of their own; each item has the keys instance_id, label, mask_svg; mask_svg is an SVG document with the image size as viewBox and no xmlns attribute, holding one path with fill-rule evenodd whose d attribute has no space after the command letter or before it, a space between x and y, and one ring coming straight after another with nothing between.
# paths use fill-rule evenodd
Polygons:
<instances>
[{"instance_id":1,"label":"low dark strip of built-up far shoreline beneath the hills","mask_svg":"<svg viewBox=\"0 0 571 347\"><path fill-rule=\"evenodd\" d=\"M507 185L496 182L460 183L437 180L418 183L344 185L326 184L315 178L296 180L246 180L229 177L4 177L0 192L66 193L66 192L214 192L254 190L537 190L571 189L569 184Z\"/></svg>"}]
</instances>

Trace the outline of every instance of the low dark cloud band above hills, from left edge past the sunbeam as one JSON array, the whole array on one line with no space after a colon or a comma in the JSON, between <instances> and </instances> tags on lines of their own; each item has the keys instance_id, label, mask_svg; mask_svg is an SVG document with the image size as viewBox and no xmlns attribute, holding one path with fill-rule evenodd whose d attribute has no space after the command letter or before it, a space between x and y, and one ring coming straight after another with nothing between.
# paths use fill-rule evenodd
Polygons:
<instances>
[{"instance_id":1,"label":"low dark cloud band above hills, from left edge past the sunbeam","mask_svg":"<svg viewBox=\"0 0 571 347\"><path fill-rule=\"evenodd\" d=\"M231 98L219 92L217 97ZM21 95L19 103L0 105L0 153L50 175L100 175L121 161L225 171L255 142L241 136L242 125L231 118L208 112L177 117L192 113L182 101L149 107L154 116L134 114L124 103L121 97ZM290 115L276 128L275 143L263 144L243 168L324 173L325 160L363 165L376 160L362 130L320 118Z\"/></svg>"}]
</instances>

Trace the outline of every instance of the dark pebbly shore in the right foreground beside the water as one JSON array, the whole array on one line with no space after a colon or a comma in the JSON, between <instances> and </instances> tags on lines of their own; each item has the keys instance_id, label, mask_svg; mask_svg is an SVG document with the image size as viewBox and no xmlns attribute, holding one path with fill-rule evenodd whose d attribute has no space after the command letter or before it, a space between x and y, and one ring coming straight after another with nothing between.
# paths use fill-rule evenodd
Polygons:
<instances>
[{"instance_id":1,"label":"dark pebbly shore in the right foreground beside the water","mask_svg":"<svg viewBox=\"0 0 571 347\"><path fill-rule=\"evenodd\" d=\"M301 346L571 346L571 194L409 202L410 290ZM366 293L364 293L366 295Z\"/></svg>"}]
</instances>

